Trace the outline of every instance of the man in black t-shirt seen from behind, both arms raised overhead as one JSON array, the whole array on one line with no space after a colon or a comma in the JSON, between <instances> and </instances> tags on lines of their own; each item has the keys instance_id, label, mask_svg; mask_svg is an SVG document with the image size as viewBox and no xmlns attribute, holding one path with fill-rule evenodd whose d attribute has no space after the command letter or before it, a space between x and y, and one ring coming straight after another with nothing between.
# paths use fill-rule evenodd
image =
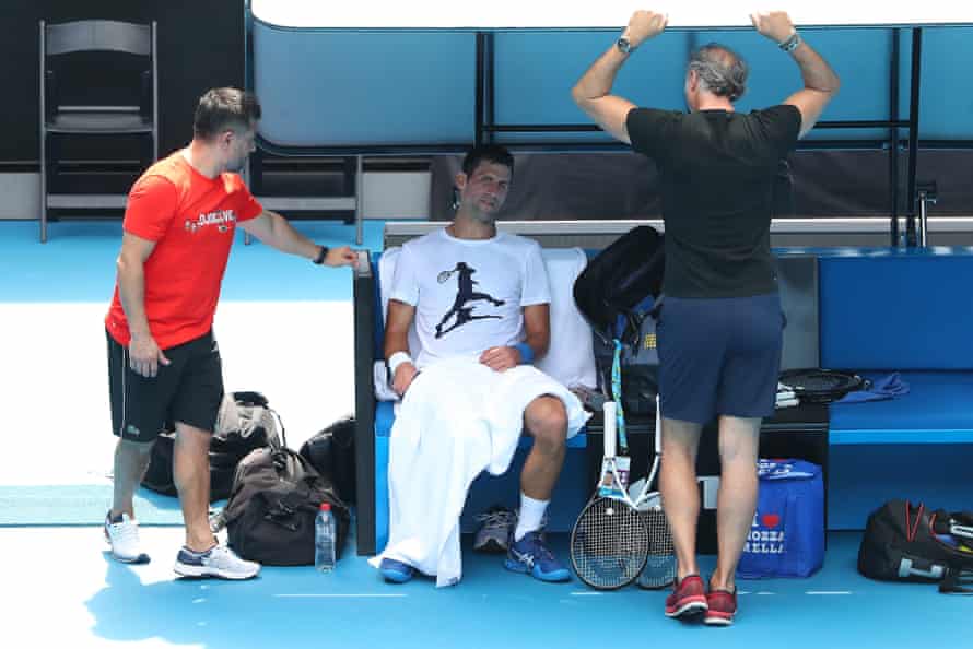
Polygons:
<instances>
[{"instance_id":1,"label":"man in black t-shirt seen from behind, both arms raised overhead","mask_svg":"<svg viewBox=\"0 0 973 649\"><path fill-rule=\"evenodd\" d=\"M705 613L704 622L713 625L730 624L736 613L734 575L757 507L760 424L773 413L781 364L784 319L770 250L774 176L839 88L834 71L786 13L751 20L794 58L804 78L805 87L782 105L736 113L747 66L716 44L690 59L689 113L637 108L612 95L622 64L666 27L666 16L652 11L635 12L572 91L602 129L653 158L659 170L666 225L659 486L679 564L666 614ZM722 463L719 555L707 589L695 558L695 457L702 428L714 417Z\"/></svg>"}]
</instances>

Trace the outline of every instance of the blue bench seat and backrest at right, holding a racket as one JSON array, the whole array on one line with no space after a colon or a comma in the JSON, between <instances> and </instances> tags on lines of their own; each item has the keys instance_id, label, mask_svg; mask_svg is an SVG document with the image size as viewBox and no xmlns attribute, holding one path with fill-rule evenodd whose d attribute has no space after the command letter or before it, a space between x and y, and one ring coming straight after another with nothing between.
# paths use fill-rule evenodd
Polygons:
<instances>
[{"instance_id":1,"label":"blue bench seat and backrest at right, holding a racket","mask_svg":"<svg viewBox=\"0 0 973 649\"><path fill-rule=\"evenodd\" d=\"M884 500L973 500L973 248L837 249L819 257L821 366L901 374L908 394L832 404L829 526Z\"/></svg>"}]
</instances>

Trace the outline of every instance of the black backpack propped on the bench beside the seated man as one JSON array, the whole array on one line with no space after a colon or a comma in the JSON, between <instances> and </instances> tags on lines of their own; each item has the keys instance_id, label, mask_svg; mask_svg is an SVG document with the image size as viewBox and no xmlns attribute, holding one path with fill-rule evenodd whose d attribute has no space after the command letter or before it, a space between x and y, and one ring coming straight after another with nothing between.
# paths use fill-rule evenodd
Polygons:
<instances>
[{"instance_id":1,"label":"black backpack propped on the bench beside the seated man","mask_svg":"<svg viewBox=\"0 0 973 649\"><path fill-rule=\"evenodd\" d=\"M591 259L574 282L575 304L595 333L602 388L611 381L613 341L622 343L622 405L626 414L655 413L658 354L653 314L663 291L664 271L663 236L640 225Z\"/></svg>"}]
</instances>

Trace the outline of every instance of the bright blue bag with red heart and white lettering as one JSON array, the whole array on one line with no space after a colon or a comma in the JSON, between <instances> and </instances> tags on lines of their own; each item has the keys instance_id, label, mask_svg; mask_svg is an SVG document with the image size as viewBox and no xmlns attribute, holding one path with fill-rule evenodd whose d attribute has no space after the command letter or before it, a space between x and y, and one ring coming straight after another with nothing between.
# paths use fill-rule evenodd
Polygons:
<instances>
[{"instance_id":1,"label":"bright blue bag with red heart and white lettering","mask_svg":"<svg viewBox=\"0 0 973 649\"><path fill-rule=\"evenodd\" d=\"M824 563L824 482L804 460L760 460L757 514L737 576L808 577Z\"/></svg>"}]
</instances>

